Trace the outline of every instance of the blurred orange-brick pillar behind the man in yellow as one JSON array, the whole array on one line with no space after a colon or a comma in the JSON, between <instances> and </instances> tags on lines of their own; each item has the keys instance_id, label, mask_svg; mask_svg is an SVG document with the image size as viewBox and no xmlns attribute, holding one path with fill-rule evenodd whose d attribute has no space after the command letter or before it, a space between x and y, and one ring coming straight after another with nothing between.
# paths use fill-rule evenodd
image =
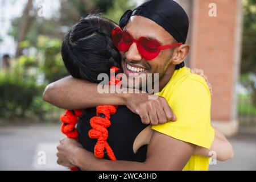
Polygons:
<instances>
[{"instance_id":1,"label":"blurred orange-brick pillar behind the man in yellow","mask_svg":"<svg viewBox=\"0 0 256 182\"><path fill-rule=\"evenodd\" d=\"M190 19L188 67L203 69L213 88L212 123L226 135L238 130L236 84L240 71L242 2L177 0Z\"/></svg>"}]
</instances>

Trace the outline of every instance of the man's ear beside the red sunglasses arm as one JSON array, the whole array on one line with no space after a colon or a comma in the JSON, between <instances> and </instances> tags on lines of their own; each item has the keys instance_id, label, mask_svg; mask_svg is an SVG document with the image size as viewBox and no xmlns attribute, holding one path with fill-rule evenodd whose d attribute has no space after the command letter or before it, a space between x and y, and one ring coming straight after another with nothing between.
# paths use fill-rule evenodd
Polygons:
<instances>
[{"instance_id":1,"label":"man's ear beside the red sunglasses arm","mask_svg":"<svg viewBox=\"0 0 256 182\"><path fill-rule=\"evenodd\" d=\"M182 44L174 50L174 55L172 55L172 64L180 64L187 57L189 52L189 46L187 44Z\"/></svg>"}]
</instances>

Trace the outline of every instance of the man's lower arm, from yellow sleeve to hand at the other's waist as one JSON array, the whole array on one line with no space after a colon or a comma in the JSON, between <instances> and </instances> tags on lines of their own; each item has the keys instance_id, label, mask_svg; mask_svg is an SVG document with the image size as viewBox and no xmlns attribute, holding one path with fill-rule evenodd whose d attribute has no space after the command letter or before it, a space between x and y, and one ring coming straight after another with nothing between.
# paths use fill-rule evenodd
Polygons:
<instances>
[{"instance_id":1,"label":"man's lower arm, from yellow sleeve to hand at the other's waist","mask_svg":"<svg viewBox=\"0 0 256 182\"><path fill-rule=\"evenodd\" d=\"M154 131L147 150L146 162L115 162L96 159L80 148L74 155L74 166L84 170L182 170L195 150L195 145Z\"/></svg>"}]
</instances>

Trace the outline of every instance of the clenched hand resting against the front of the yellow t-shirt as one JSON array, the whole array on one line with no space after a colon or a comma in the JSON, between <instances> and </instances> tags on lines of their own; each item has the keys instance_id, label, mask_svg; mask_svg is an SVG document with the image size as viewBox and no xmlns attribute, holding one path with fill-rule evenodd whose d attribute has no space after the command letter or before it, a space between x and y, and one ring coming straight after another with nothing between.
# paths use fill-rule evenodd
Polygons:
<instances>
[{"instance_id":1,"label":"clenched hand resting against the front of the yellow t-shirt","mask_svg":"<svg viewBox=\"0 0 256 182\"><path fill-rule=\"evenodd\" d=\"M126 106L141 117L144 124L158 125L176 121L177 117L164 97L148 100L148 93L128 94Z\"/></svg>"}]
</instances>

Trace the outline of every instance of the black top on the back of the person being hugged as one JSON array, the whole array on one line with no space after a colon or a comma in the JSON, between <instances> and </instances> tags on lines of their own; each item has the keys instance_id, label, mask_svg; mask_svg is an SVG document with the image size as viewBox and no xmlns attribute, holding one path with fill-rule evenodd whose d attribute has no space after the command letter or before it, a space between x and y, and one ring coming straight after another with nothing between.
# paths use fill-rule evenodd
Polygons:
<instances>
[{"instance_id":1,"label":"black top on the back of the person being hugged","mask_svg":"<svg viewBox=\"0 0 256 182\"><path fill-rule=\"evenodd\" d=\"M97 139L91 139L88 131L90 118L96 116L96 107L86 109L79 118L77 130L79 133L79 142L86 150L94 152L94 146ZM126 106L118 106L117 112L110 116L111 126L108 128L109 137L107 142L112 148L117 160L129 160L144 162L146 160L147 145L139 148L136 154L133 152L133 143L135 138L148 125L141 122L139 115L131 112ZM105 159L109 159L105 152Z\"/></svg>"}]
</instances>

